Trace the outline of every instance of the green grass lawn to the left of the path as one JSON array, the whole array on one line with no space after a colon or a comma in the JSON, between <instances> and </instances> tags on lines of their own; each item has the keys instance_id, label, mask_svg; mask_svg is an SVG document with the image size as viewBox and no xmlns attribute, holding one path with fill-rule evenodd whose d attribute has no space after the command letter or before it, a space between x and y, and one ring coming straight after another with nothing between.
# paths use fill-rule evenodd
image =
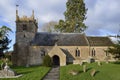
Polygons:
<instances>
[{"instance_id":1,"label":"green grass lawn to the left of the path","mask_svg":"<svg viewBox=\"0 0 120 80\"><path fill-rule=\"evenodd\" d=\"M0 79L0 80L41 80L44 75L50 70L50 67L33 66L33 67L13 67L17 73L23 74L19 78Z\"/></svg>"}]
</instances>

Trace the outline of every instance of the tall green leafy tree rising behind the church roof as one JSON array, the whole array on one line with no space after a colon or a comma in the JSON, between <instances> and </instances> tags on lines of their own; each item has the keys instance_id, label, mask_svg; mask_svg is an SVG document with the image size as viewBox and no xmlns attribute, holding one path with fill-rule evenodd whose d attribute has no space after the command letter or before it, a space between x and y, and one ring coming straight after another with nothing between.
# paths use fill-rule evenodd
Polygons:
<instances>
[{"instance_id":1,"label":"tall green leafy tree rising behind the church roof","mask_svg":"<svg viewBox=\"0 0 120 80\"><path fill-rule=\"evenodd\" d=\"M87 28L84 23L87 13L84 0L68 0L66 7L65 21L60 20L55 29L60 32L83 32Z\"/></svg>"}]
</instances>

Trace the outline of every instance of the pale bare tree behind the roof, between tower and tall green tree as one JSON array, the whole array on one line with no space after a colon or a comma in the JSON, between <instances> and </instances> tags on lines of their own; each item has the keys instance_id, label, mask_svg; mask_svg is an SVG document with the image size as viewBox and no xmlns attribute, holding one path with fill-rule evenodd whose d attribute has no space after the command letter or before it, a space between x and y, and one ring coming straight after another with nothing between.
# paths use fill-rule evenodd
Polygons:
<instances>
[{"instance_id":1,"label":"pale bare tree behind the roof, between tower and tall green tree","mask_svg":"<svg viewBox=\"0 0 120 80\"><path fill-rule=\"evenodd\" d=\"M57 25L57 22L50 21L43 25L42 30L45 32L55 32L55 28L54 28L55 25Z\"/></svg>"}]
</instances>

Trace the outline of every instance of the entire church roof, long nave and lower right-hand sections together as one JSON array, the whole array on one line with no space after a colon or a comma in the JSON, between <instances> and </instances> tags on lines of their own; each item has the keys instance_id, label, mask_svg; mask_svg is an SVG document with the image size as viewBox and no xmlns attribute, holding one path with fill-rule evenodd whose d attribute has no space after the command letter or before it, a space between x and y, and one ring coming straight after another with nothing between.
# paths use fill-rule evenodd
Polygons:
<instances>
[{"instance_id":1,"label":"entire church roof, long nave and lower right-hand sections together","mask_svg":"<svg viewBox=\"0 0 120 80\"><path fill-rule=\"evenodd\" d=\"M35 46L112 46L108 37L85 36L80 33L36 33L31 45Z\"/></svg>"}]
</instances>

